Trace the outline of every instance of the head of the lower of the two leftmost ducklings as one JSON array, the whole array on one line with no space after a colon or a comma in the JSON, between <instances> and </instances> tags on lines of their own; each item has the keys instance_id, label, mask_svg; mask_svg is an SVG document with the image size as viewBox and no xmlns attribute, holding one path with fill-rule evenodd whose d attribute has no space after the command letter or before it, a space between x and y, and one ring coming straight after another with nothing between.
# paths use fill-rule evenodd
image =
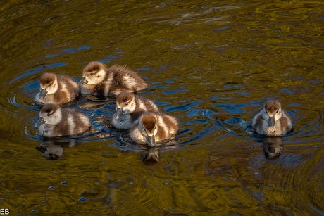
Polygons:
<instances>
[{"instance_id":1,"label":"head of the lower of the two leftmost ducklings","mask_svg":"<svg viewBox=\"0 0 324 216\"><path fill-rule=\"evenodd\" d=\"M58 125L62 120L62 110L57 104L45 104L39 112L39 119L37 126L46 125Z\"/></svg>"}]
</instances>

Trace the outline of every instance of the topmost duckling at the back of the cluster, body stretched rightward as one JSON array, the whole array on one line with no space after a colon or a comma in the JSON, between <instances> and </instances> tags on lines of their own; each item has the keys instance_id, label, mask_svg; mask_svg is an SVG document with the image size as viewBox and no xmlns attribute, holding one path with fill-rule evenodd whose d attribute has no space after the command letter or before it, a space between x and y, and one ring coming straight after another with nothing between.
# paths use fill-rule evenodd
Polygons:
<instances>
[{"instance_id":1,"label":"topmost duckling at the back of the cluster, body stretched rightward","mask_svg":"<svg viewBox=\"0 0 324 216\"><path fill-rule=\"evenodd\" d=\"M83 69L79 82L82 94L112 96L121 92L135 92L147 88L147 84L132 70L125 66L113 65L111 68L99 62L92 62Z\"/></svg>"}]
</instances>

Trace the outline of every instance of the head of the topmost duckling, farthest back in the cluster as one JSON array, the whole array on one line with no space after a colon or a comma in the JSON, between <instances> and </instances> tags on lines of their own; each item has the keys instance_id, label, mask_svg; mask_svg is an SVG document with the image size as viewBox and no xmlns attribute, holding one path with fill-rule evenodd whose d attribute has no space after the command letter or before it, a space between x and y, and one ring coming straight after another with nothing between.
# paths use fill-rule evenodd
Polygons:
<instances>
[{"instance_id":1,"label":"head of the topmost duckling, farthest back in the cluster","mask_svg":"<svg viewBox=\"0 0 324 216\"><path fill-rule=\"evenodd\" d=\"M89 65L83 69L82 80L80 80L79 85L101 83L106 77L106 70L103 63L96 61L89 63Z\"/></svg>"}]
</instances>

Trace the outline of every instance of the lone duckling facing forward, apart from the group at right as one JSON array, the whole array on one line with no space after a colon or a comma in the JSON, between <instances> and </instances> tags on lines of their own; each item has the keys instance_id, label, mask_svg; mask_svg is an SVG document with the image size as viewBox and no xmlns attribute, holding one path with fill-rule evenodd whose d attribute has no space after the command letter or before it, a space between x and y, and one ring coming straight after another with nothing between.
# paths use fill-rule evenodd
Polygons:
<instances>
[{"instance_id":1,"label":"lone duckling facing forward, apart from the group at right","mask_svg":"<svg viewBox=\"0 0 324 216\"><path fill-rule=\"evenodd\" d=\"M281 136L292 130L292 121L278 101L267 101L263 108L252 116L251 127L258 134Z\"/></svg>"}]
</instances>

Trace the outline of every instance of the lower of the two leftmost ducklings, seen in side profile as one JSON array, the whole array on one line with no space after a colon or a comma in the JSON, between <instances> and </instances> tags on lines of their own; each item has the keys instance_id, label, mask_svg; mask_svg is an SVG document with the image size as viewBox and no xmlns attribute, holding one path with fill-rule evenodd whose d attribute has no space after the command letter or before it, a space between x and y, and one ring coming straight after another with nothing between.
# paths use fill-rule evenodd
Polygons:
<instances>
[{"instance_id":1,"label":"lower of the two leftmost ducklings, seen in side profile","mask_svg":"<svg viewBox=\"0 0 324 216\"><path fill-rule=\"evenodd\" d=\"M39 134L46 137L82 134L91 127L89 117L79 110L45 104L36 123Z\"/></svg>"}]
</instances>

